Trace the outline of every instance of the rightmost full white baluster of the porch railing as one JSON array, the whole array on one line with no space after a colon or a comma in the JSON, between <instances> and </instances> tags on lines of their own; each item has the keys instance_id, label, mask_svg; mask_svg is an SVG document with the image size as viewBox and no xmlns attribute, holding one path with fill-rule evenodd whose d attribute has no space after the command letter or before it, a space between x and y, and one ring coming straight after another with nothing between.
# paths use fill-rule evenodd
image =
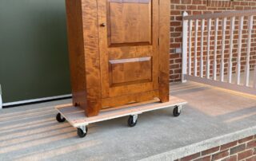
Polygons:
<instances>
[{"instance_id":1,"label":"rightmost full white baluster of the porch railing","mask_svg":"<svg viewBox=\"0 0 256 161\"><path fill-rule=\"evenodd\" d=\"M251 43L251 30L253 29L254 16L248 17L248 38L247 38L247 51L246 51L246 70L244 85L249 86L250 79L250 43Z\"/></svg>"}]
</instances>

